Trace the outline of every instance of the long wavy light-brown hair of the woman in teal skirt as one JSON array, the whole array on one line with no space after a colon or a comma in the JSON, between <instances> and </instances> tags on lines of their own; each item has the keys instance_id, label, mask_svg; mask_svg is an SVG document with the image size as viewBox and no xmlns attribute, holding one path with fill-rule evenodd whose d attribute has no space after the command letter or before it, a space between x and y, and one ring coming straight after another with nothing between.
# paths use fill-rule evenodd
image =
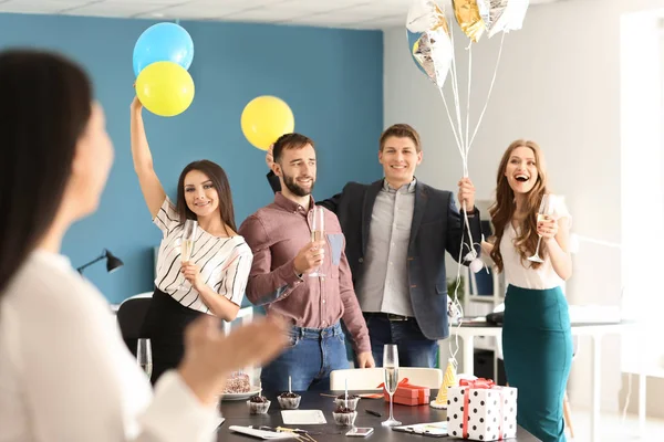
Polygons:
<instances>
[{"instance_id":1,"label":"long wavy light-brown hair of the woman in teal skirt","mask_svg":"<svg viewBox=\"0 0 664 442\"><path fill-rule=\"evenodd\" d=\"M526 198L526 207L523 210L528 213L528 215L523 220L521 229L517 232L517 238L515 240L515 246L521 256L521 262L523 262L528 256L535 254L538 241L537 210L540 201L542 200L542 196L547 193L547 171L544 168L544 158L538 144L526 139L518 139L510 144L505 154L502 154L502 159L500 160L500 166L498 167L498 175L496 178L496 201L489 208L489 214L491 215L491 223L494 224L495 231L494 249L490 253L490 256L500 272L502 272L504 269L502 254L500 253L500 240L502 240L505 228L509 222L511 222L511 219L517 210L515 192L507 181L505 170L507 169L507 164L512 151L518 147L528 147L532 150L535 154L535 166L537 167L538 171L537 182L528 192ZM540 254L542 252L540 252ZM546 250L543 253L546 253ZM538 269L541 263L530 264L532 269Z\"/></svg>"}]
</instances>

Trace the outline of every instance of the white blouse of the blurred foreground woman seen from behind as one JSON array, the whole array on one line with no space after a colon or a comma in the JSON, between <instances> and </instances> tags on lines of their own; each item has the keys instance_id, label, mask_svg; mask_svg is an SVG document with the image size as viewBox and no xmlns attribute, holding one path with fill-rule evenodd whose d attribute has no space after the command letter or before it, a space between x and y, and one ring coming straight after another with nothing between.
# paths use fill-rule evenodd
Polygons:
<instances>
[{"instance_id":1,"label":"white blouse of the blurred foreground woman seen from behind","mask_svg":"<svg viewBox=\"0 0 664 442\"><path fill-rule=\"evenodd\" d=\"M218 412L126 348L102 294L33 252L0 298L0 442L211 441Z\"/></svg>"}]
</instances>

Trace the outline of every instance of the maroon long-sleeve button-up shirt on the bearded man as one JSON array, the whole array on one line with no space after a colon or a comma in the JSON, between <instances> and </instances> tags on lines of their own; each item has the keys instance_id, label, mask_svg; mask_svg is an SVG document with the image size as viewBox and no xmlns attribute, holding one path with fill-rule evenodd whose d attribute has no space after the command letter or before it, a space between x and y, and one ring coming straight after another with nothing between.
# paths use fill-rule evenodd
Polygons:
<instances>
[{"instance_id":1,"label":"maroon long-sleeve button-up shirt on the bearded man","mask_svg":"<svg viewBox=\"0 0 664 442\"><path fill-rule=\"evenodd\" d=\"M345 256L345 238L334 213L325 212L325 277L298 277L293 261L311 241L313 198L310 210L281 192L274 202L247 218L239 229L253 252L247 298L263 305L268 315L280 315L295 326L330 327L343 319L356 352L371 351L369 330L353 288Z\"/></svg>"}]
</instances>

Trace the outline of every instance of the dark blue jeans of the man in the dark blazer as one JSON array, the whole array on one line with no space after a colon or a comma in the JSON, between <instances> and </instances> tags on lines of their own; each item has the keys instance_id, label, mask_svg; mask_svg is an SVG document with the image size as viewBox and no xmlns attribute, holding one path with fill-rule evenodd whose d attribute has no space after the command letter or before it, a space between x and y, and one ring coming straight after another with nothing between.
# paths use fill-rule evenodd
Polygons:
<instances>
[{"instance_id":1,"label":"dark blue jeans of the man in the dark blazer","mask_svg":"<svg viewBox=\"0 0 664 442\"><path fill-rule=\"evenodd\" d=\"M398 365L401 367L436 366L438 343L426 338L415 318L393 322L383 313L364 313L369 336L371 338L371 352L376 367L383 367L383 346L396 344L398 350Z\"/></svg>"}]
</instances>

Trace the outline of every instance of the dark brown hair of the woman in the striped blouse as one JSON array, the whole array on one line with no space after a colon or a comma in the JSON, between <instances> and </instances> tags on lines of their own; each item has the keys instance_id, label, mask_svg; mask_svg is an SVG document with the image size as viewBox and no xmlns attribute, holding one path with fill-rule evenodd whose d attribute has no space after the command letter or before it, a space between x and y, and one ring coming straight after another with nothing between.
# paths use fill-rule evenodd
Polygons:
<instances>
[{"instance_id":1,"label":"dark brown hair of the woman in the striped blouse","mask_svg":"<svg viewBox=\"0 0 664 442\"><path fill-rule=\"evenodd\" d=\"M195 220L196 213L194 213L188 207L185 200L185 177L191 170L198 170L205 173L219 194L219 215L221 221L226 223L234 232L237 232L235 224L235 209L232 207L232 193L230 191L230 185L226 171L216 162L203 159L199 161L189 162L184 168L180 177L177 181L177 204L176 210L179 214L179 219L184 222L185 220Z\"/></svg>"}]
</instances>

